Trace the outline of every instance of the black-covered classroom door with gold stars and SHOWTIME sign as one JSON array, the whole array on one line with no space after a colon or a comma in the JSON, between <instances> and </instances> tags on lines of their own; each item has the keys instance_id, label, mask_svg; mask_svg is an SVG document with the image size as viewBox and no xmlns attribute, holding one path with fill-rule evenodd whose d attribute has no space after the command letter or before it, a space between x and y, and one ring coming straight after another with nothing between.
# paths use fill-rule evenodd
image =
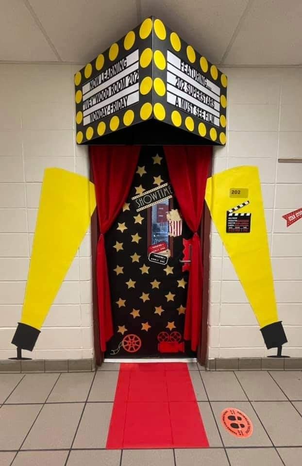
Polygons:
<instances>
[{"instance_id":1,"label":"black-covered classroom door with gold stars and SHOWTIME sign","mask_svg":"<svg viewBox=\"0 0 302 466\"><path fill-rule=\"evenodd\" d=\"M185 224L162 148L143 147L128 199L106 234L114 335L106 357L193 357L184 341Z\"/></svg>"}]
</instances>

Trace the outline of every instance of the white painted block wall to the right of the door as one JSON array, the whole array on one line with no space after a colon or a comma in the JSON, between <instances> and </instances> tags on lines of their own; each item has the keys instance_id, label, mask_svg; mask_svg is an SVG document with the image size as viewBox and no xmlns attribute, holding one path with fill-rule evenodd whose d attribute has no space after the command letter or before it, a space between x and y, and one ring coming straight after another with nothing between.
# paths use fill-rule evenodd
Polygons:
<instances>
[{"instance_id":1,"label":"white painted block wall to the right of the door","mask_svg":"<svg viewBox=\"0 0 302 466\"><path fill-rule=\"evenodd\" d=\"M286 228L282 216L302 207L302 68L224 68L229 78L228 144L215 149L214 173L257 165L262 182L284 354L302 357L302 221ZM257 320L215 226L211 228L210 358L263 357Z\"/></svg>"}]
</instances>

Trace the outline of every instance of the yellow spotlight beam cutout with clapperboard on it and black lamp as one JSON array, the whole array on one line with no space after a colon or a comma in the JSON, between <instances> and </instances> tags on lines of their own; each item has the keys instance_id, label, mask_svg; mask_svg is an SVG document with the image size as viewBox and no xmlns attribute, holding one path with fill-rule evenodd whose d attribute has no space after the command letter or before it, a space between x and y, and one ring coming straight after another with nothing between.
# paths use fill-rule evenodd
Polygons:
<instances>
[{"instance_id":1,"label":"yellow spotlight beam cutout with clapperboard on it and black lamp","mask_svg":"<svg viewBox=\"0 0 302 466\"><path fill-rule=\"evenodd\" d=\"M205 200L267 348L287 342L278 321L258 168L238 166L207 181Z\"/></svg>"}]
</instances>

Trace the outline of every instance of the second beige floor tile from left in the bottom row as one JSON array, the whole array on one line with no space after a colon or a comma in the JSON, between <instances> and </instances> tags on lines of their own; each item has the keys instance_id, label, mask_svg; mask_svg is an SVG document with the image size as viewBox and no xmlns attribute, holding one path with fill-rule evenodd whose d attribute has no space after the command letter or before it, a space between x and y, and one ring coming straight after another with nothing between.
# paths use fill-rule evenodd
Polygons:
<instances>
[{"instance_id":1,"label":"second beige floor tile from left in the bottom row","mask_svg":"<svg viewBox=\"0 0 302 466\"><path fill-rule=\"evenodd\" d=\"M64 466L68 451L19 451L12 466Z\"/></svg>"}]
</instances>

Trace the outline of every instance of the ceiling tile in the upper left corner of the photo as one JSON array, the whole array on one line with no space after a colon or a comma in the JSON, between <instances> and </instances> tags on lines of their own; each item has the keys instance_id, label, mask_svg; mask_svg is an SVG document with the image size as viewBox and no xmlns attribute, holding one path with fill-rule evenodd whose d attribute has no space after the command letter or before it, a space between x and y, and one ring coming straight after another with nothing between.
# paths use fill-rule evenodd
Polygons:
<instances>
[{"instance_id":1,"label":"ceiling tile in the upper left corner of the photo","mask_svg":"<svg viewBox=\"0 0 302 466\"><path fill-rule=\"evenodd\" d=\"M0 61L58 61L22 0L1 1Z\"/></svg>"}]
</instances>

